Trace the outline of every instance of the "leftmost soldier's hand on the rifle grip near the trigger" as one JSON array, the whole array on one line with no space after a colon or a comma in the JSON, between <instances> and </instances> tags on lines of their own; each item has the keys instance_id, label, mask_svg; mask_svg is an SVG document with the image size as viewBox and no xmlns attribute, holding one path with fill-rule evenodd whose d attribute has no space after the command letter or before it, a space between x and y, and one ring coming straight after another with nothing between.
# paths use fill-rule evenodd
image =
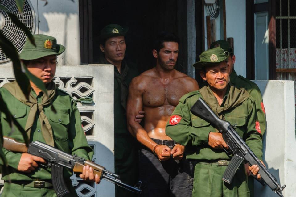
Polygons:
<instances>
[{"instance_id":1,"label":"leftmost soldier's hand on the rifle grip near the trigger","mask_svg":"<svg viewBox=\"0 0 296 197\"><path fill-rule=\"evenodd\" d=\"M30 173L38 167L36 162L45 163L46 161L29 153L22 153L21 159L19 160L18 171Z\"/></svg>"}]
</instances>

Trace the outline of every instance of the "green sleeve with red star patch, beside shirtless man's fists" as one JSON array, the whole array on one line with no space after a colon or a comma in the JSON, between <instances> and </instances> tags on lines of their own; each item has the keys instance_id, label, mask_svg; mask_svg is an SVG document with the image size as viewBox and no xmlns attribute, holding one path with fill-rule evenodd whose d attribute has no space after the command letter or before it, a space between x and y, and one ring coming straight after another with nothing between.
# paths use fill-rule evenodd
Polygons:
<instances>
[{"instance_id":1,"label":"green sleeve with red star patch, beside shirtless man's fists","mask_svg":"<svg viewBox=\"0 0 296 197\"><path fill-rule=\"evenodd\" d=\"M178 124L171 124L171 120L167 122L166 134L171 137L177 143L186 146L187 144L192 145L202 145L204 143L208 143L209 131L202 131L200 129L192 127L191 123L191 115L189 111L190 107L188 107L187 103L181 103L177 105L174 112L171 115L175 117L177 115L180 116L180 120Z\"/></svg>"}]
</instances>

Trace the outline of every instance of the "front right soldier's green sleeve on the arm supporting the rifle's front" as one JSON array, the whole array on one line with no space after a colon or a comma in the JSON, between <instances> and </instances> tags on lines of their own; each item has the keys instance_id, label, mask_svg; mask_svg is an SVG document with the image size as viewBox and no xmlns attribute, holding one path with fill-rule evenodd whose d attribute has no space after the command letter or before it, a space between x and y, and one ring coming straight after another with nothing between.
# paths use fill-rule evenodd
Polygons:
<instances>
[{"instance_id":1,"label":"front right soldier's green sleeve on the arm supporting the rifle's front","mask_svg":"<svg viewBox=\"0 0 296 197\"><path fill-rule=\"evenodd\" d=\"M262 135L257 132L255 128L257 120L256 107L250 99L247 99L246 101L248 102L248 122L245 142L258 159L262 160Z\"/></svg>"}]
</instances>

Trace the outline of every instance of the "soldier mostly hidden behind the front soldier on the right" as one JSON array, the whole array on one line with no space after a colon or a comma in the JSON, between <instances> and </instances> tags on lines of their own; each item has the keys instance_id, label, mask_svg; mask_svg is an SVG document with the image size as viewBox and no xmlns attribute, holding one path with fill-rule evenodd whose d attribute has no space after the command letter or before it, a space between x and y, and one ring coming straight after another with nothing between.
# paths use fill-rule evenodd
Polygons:
<instances>
[{"instance_id":1,"label":"soldier mostly hidden behind the front soldier on the right","mask_svg":"<svg viewBox=\"0 0 296 197\"><path fill-rule=\"evenodd\" d=\"M257 121L256 121L256 130L261 132L262 136L266 130L266 117L265 117L265 108L262 100L261 92L256 83L250 81L249 79L244 78L241 75L237 75L234 70L234 63L236 57L233 52L233 48L226 40L218 40L211 44L210 48L221 47L224 51L229 52L229 57L227 60L227 64L230 68L230 82L234 85L237 89L245 88L248 93L253 97L255 100L255 106L257 111ZM249 175L250 172L248 168L246 168L247 174ZM254 196L254 179L253 177L248 178L248 185L250 189L251 197Z\"/></svg>"}]
</instances>

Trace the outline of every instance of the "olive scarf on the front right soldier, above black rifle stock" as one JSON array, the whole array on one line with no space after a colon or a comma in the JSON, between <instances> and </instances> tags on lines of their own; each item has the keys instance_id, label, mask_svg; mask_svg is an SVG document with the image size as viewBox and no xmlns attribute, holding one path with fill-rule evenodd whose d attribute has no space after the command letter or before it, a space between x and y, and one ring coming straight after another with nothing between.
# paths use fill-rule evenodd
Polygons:
<instances>
[{"instance_id":1,"label":"olive scarf on the front right soldier, above black rifle stock","mask_svg":"<svg viewBox=\"0 0 296 197\"><path fill-rule=\"evenodd\" d=\"M221 114L223 111L235 108L250 96L249 93L243 88L237 89L234 86L231 86L230 84L227 85L227 88L229 90L229 93L226 96L226 99L224 98L223 107L219 106L218 100L214 96L209 85L199 89L199 92L203 96L205 101L212 108L215 114L218 115L221 119L224 119L224 115Z\"/></svg>"}]
</instances>

